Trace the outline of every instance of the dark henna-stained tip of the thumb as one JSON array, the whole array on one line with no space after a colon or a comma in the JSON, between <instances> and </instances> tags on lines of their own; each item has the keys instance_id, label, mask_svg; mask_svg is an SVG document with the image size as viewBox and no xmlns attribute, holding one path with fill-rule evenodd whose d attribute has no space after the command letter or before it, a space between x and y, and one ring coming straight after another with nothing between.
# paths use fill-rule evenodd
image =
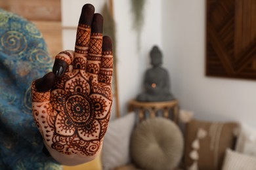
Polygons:
<instances>
[{"instance_id":1,"label":"dark henna-stained tip of the thumb","mask_svg":"<svg viewBox=\"0 0 256 170\"><path fill-rule=\"evenodd\" d=\"M34 81L35 90L37 92L47 92L53 87L55 75L53 72L47 73L42 78Z\"/></svg>"}]
</instances>

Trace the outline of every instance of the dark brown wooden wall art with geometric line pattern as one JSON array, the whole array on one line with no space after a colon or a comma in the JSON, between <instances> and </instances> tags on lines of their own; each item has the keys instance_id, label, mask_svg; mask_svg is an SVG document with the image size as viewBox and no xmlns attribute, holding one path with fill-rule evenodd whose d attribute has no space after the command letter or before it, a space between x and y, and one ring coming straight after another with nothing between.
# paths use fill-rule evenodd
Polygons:
<instances>
[{"instance_id":1,"label":"dark brown wooden wall art with geometric line pattern","mask_svg":"<svg viewBox=\"0 0 256 170\"><path fill-rule=\"evenodd\" d=\"M255 0L207 0L206 75L256 79L255 30Z\"/></svg>"}]
</instances>

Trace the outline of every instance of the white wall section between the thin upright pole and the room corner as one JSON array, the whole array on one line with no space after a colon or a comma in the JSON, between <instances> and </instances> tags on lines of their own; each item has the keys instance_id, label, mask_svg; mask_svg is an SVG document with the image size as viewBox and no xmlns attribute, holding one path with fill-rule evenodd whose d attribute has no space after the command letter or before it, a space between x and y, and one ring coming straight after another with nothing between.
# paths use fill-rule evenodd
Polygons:
<instances>
[{"instance_id":1,"label":"white wall section between the thin upright pole and the room corner","mask_svg":"<svg viewBox=\"0 0 256 170\"><path fill-rule=\"evenodd\" d=\"M154 44L161 46L161 1L146 1L139 52L137 34L132 29L130 1L114 1L121 114L126 114L128 101L141 92L142 78L149 63L149 51Z\"/></svg>"}]
</instances>

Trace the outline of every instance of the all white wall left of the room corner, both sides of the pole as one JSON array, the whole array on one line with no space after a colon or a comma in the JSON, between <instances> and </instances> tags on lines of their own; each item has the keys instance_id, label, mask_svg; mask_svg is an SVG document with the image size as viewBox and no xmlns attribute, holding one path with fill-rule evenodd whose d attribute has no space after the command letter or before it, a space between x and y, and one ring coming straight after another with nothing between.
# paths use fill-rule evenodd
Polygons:
<instances>
[{"instance_id":1,"label":"all white wall left of the room corner, both sides of the pole","mask_svg":"<svg viewBox=\"0 0 256 170\"><path fill-rule=\"evenodd\" d=\"M127 113L127 103L140 93L142 78L148 67L148 53L154 44L161 47L161 1L147 0L144 9L144 27L141 35L141 48L137 50L137 34L133 30L131 0L114 0L114 19L116 20L116 56L121 114ZM100 12L102 0L62 0L62 25L76 27L83 4L95 5ZM64 29L64 49L74 49L76 29ZM115 115L115 108L113 113ZM113 116L112 116L113 117Z\"/></svg>"}]
</instances>

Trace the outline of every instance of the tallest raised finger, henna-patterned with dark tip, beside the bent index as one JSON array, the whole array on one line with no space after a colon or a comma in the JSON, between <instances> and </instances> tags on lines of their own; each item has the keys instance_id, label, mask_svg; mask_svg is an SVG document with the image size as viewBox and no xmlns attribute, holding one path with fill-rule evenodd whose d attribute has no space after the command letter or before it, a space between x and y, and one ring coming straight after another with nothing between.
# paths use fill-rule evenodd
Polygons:
<instances>
[{"instance_id":1,"label":"tallest raised finger, henna-patterned with dark tip, beside the bent index","mask_svg":"<svg viewBox=\"0 0 256 170\"><path fill-rule=\"evenodd\" d=\"M83 6L75 40L74 69L85 69L91 35L91 23L95 7L91 4Z\"/></svg>"}]
</instances>

